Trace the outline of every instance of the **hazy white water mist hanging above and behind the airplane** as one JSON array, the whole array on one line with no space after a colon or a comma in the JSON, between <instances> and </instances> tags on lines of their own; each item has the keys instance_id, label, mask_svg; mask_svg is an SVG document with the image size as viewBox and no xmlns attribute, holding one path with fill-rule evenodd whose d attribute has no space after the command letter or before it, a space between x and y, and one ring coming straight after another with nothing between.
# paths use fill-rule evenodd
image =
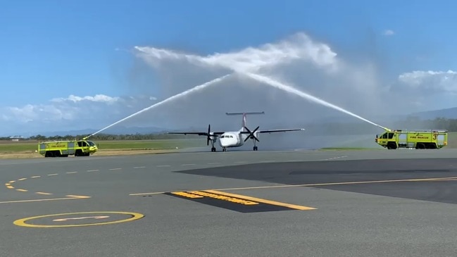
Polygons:
<instances>
[{"instance_id":1,"label":"hazy white water mist hanging above and behind the airplane","mask_svg":"<svg viewBox=\"0 0 457 257\"><path fill-rule=\"evenodd\" d=\"M125 122L129 125L207 130L211 124L213 131L238 130L241 118L226 116L226 112L265 111L265 115L248 117L251 130L257 126L260 130L297 127L307 130L262 134L259 149L313 149L342 142L347 146L365 146L367 142L368 146L376 146L373 138L382 132L380 127L249 79L242 75L244 72L280 80L380 125L394 124L389 117L391 113L401 115L415 111L413 102L400 101L402 96L392 93L392 84L380 82L381 74L374 61L345 61L329 44L315 42L305 33L208 56L154 46L135 46L134 54L149 70L144 66L133 68L132 74L154 77L150 88L142 81L141 87L134 90L149 93L154 89L159 94L158 101L216 77L235 75L130 118ZM252 143L246 143L251 147Z\"/></svg>"}]
</instances>

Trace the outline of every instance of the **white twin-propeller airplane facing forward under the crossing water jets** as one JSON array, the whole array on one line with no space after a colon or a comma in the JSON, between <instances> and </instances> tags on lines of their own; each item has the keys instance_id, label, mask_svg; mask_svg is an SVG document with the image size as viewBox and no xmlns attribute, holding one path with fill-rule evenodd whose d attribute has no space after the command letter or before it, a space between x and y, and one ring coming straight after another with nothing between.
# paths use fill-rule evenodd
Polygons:
<instances>
[{"instance_id":1,"label":"white twin-propeller airplane facing forward under the crossing water jets","mask_svg":"<svg viewBox=\"0 0 457 257\"><path fill-rule=\"evenodd\" d=\"M248 112L248 113L225 113L226 115L242 115L242 127L238 131L225 131L225 132L211 132L211 124L208 125L208 132L168 132L168 134L198 134L199 136L206 136L206 145L209 146L211 142L211 151L215 152L215 142L219 137L219 146L222 147L222 151L227 151L228 148L239 147L244 145L248 139L253 141L253 151L257 151L258 147L256 142L259 134L273 133L273 132L288 132L288 131L299 131L305 130L304 128L299 129L282 129L282 130L258 130L259 126L255 130L251 131L246 127L246 116L251 114L265 114L262 112Z\"/></svg>"}]
</instances>

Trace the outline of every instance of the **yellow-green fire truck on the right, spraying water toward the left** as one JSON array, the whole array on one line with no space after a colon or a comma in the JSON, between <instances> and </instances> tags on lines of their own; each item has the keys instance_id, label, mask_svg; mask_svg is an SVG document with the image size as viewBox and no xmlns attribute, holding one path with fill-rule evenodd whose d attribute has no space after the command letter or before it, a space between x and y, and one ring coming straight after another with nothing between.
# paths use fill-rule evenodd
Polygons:
<instances>
[{"instance_id":1,"label":"yellow-green fire truck on the right, spraying water toward the left","mask_svg":"<svg viewBox=\"0 0 457 257\"><path fill-rule=\"evenodd\" d=\"M387 149L441 149L447 145L446 130L402 131L389 130L376 135L375 142Z\"/></svg>"}]
</instances>

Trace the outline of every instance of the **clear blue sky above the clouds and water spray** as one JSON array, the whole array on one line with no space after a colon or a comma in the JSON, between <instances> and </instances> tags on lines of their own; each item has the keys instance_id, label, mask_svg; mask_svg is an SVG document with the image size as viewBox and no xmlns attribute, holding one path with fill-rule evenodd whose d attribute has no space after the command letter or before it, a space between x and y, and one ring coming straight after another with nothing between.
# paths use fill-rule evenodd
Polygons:
<instances>
[{"instance_id":1,"label":"clear blue sky above the clouds and water spray","mask_svg":"<svg viewBox=\"0 0 457 257\"><path fill-rule=\"evenodd\" d=\"M456 7L455 1L412 0L4 2L0 108L11 120L9 107L46 105L70 95L141 94L128 78L134 56L115 49L155 46L206 56L295 32L329 44L347 60L371 58L385 83L414 70L456 70ZM387 30L392 35L384 35ZM148 94L161 98L158 83L151 82Z\"/></svg>"}]
</instances>

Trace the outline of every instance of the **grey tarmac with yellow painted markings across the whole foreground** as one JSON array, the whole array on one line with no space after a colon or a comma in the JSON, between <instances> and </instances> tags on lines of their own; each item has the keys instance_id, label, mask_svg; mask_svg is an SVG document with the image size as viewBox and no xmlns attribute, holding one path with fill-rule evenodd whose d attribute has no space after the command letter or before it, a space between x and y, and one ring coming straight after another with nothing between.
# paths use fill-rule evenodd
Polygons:
<instances>
[{"instance_id":1,"label":"grey tarmac with yellow painted markings across the whole foreground","mask_svg":"<svg viewBox=\"0 0 457 257\"><path fill-rule=\"evenodd\" d=\"M1 160L1 256L455 256L457 150Z\"/></svg>"}]
</instances>

